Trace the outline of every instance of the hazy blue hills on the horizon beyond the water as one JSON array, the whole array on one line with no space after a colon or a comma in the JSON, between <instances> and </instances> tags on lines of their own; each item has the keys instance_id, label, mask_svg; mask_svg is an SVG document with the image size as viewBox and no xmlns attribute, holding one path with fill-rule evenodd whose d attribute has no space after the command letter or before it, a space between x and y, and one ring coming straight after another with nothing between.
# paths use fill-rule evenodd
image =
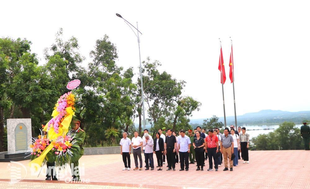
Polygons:
<instances>
[{"instance_id":1,"label":"hazy blue hills on the horizon beyond the water","mask_svg":"<svg viewBox=\"0 0 310 189\"><path fill-rule=\"evenodd\" d=\"M190 123L202 124L204 119L192 119ZM281 110L261 110L259 112L237 116L237 125L278 125L284 121L301 124L301 121L305 119L310 120L310 111L287 112ZM219 121L224 123L224 117L220 117ZM235 125L235 116L226 117L226 122L227 125Z\"/></svg>"}]
</instances>

